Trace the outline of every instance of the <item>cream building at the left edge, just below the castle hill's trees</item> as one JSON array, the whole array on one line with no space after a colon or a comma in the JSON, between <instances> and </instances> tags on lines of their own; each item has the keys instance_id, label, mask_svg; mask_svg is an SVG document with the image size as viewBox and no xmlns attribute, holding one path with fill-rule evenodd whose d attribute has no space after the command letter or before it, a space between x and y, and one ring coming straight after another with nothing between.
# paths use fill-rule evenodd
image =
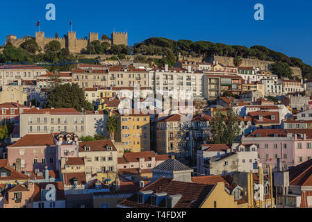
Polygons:
<instances>
[{"instance_id":1,"label":"cream building at the left edge, just below the castle hill's trees","mask_svg":"<svg viewBox=\"0 0 312 222\"><path fill-rule=\"evenodd\" d=\"M37 80L48 70L37 65L2 65L0 66L0 85L8 85L16 80Z\"/></svg>"}]
</instances>

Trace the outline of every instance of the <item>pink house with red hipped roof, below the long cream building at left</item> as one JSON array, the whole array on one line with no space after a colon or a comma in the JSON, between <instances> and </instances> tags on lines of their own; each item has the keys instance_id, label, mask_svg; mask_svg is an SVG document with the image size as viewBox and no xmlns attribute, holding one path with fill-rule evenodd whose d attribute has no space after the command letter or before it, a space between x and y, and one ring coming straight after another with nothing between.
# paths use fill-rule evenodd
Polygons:
<instances>
[{"instance_id":1,"label":"pink house with red hipped roof, below the long cream building at left","mask_svg":"<svg viewBox=\"0 0 312 222\"><path fill-rule=\"evenodd\" d=\"M56 140L53 134L25 135L8 146L8 162L21 171L56 169Z\"/></svg>"}]
</instances>

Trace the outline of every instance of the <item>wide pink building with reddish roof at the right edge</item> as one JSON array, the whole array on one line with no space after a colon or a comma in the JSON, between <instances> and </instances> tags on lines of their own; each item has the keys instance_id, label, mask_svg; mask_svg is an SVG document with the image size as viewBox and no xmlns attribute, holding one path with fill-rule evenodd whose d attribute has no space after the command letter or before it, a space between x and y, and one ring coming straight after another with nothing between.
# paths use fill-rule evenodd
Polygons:
<instances>
[{"instance_id":1,"label":"wide pink building with reddish roof at the right edge","mask_svg":"<svg viewBox=\"0 0 312 222\"><path fill-rule=\"evenodd\" d=\"M258 157L264 171L268 171L268 166L276 171L278 159L281 159L283 170L312 159L312 130L256 130L243 137L242 142L258 146Z\"/></svg>"}]
</instances>

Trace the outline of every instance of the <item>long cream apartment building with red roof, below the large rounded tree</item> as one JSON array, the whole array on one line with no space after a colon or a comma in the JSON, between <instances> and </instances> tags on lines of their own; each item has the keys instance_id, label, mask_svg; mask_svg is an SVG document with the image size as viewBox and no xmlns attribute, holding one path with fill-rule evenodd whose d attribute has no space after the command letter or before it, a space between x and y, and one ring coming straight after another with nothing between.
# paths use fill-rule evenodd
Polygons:
<instances>
[{"instance_id":1,"label":"long cream apartment building with red roof, below the large rounded tree","mask_svg":"<svg viewBox=\"0 0 312 222\"><path fill-rule=\"evenodd\" d=\"M27 134L75 133L81 136L106 135L104 112L78 112L75 109L32 108L20 114L20 137Z\"/></svg>"}]
</instances>

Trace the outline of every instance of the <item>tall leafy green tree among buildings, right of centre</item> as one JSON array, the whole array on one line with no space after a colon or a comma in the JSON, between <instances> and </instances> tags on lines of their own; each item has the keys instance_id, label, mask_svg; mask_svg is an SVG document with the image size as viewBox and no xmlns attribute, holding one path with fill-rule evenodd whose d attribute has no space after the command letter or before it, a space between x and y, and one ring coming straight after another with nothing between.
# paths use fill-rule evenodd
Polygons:
<instances>
[{"instance_id":1,"label":"tall leafy green tree among buildings, right of centre","mask_svg":"<svg viewBox=\"0 0 312 222\"><path fill-rule=\"evenodd\" d=\"M217 111L211 121L211 143L232 144L240 135L239 117L232 109L226 113Z\"/></svg>"}]
</instances>

